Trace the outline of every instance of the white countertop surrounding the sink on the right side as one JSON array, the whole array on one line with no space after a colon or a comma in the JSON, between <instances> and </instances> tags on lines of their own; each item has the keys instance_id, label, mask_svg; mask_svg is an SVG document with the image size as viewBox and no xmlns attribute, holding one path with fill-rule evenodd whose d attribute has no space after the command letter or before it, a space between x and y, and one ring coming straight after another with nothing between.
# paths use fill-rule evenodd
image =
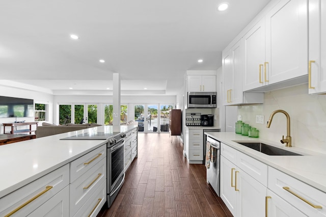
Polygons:
<instances>
[{"instance_id":1,"label":"white countertop surrounding the sink on the right side","mask_svg":"<svg viewBox=\"0 0 326 217\"><path fill-rule=\"evenodd\" d=\"M326 155L324 154L296 147L285 147L281 143L275 144L262 138L250 138L234 132L205 132L205 134L326 193ZM233 141L260 141L304 156L270 156Z\"/></svg>"}]
</instances>

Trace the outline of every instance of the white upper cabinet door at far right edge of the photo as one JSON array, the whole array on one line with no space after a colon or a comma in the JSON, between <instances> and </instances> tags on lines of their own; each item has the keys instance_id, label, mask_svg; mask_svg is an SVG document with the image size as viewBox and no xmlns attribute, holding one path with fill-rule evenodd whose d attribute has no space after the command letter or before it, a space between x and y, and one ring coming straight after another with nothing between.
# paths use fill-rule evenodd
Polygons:
<instances>
[{"instance_id":1,"label":"white upper cabinet door at far right edge of the photo","mask_svg":"<svg viewBox=\"0 0 326 217\"><path fill-rule=\"evenodd\" d=\"M326 92L326 2L309 1L309 93Z\"/></svg>"}]
</instances>

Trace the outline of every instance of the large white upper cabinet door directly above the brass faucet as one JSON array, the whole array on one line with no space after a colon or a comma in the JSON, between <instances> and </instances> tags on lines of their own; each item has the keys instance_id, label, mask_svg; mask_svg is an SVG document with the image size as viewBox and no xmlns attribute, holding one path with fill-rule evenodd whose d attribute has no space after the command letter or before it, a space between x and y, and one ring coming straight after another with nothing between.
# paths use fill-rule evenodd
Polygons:
<instances>
[{"instance_id":1,"label":"large white upper cabinet door directly above the brass faucet","mask_svg":"<svg viewBox=\"0 0 326 217\"><path fill-rule=\"evenodd\" d=\"M282 0L266 14L266 84L308 74L307 5Z\"/></svg>"}]
</instances>

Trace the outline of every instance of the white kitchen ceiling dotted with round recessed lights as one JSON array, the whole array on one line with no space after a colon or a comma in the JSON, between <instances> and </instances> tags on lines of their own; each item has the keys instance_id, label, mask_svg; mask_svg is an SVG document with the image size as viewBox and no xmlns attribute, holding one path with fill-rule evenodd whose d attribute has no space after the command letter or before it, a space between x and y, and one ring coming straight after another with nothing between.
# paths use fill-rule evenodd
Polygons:
<instances>
[{"instance_id":1,"label":"white kitchen ceiling dotted with round recessed lights","mask_svg":"<svg viewBox=\"0 0 326 217\"><path fill-rule=\"evenodd\" d=\"M121 90L176 95L186 70L222 65L222 50L269 1L3 0L0 79L69 94L112 89L119 73ZM216 10L222 2L228 11Z\"/></svg>"}]
</instances>

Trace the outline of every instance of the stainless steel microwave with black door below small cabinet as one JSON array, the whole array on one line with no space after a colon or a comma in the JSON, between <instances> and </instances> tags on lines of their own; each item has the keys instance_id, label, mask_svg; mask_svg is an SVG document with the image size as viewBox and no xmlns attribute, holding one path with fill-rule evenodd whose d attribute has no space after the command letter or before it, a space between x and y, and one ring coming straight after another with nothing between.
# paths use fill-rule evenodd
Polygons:
<instances>
[{"instance_id":1,"label":"stainless steel microwave with black door below small cabinet","mask_svg":"<svg viewBox=\"0 0 326 217\"><path fill-rule=\"evenodd\" d=\"M188 108L215 108L216 92L188 92Z\"/></svg>"}]
</instances>

